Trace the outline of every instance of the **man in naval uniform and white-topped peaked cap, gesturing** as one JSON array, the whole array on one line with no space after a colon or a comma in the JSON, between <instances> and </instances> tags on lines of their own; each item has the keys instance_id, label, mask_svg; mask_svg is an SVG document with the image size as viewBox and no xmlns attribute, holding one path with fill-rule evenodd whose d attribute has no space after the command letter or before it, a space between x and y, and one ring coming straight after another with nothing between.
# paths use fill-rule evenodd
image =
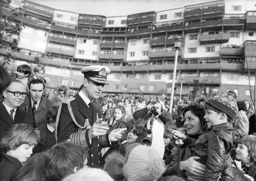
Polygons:
<instances>
[{"instance_id":1,"label":"man in naval uniform and white-topped peaked cap, gesturing","mask_svg":"<svg viewBox=\"0 0 256 181\"><path fill-rule=\"evenodd\" d=\"M111 141L121 139L123 131L116 129L107 134L107 123L98 119L98 110L92 104L93 99L99 99L103 86L108 84L107 74L110 69L106 66L86 66L83 88L74 98L62 102L57 114L58 142L69 140L88 148L90 157L88 165L100 167L100 149L110 147Z\"/></svg>"}]
</instances>

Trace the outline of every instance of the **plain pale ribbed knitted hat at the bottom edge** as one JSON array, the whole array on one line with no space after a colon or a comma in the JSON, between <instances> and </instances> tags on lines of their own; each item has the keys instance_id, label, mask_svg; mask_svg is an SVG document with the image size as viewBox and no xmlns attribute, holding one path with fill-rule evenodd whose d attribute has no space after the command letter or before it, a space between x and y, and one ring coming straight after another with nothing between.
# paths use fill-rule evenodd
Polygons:
<instances>
[{"instance_id":1,"label":"plain pale ribbed knitted hat at the bottom edge","mask_svg":"<svg viewBox=\"0 0 256 181\"><path fill-rule=\"evenodd\" d=\"M165 172L165 164L157 152L145 145L132 149L124 165L127 181L153 181Z\"/></svg>"}]
</instances>

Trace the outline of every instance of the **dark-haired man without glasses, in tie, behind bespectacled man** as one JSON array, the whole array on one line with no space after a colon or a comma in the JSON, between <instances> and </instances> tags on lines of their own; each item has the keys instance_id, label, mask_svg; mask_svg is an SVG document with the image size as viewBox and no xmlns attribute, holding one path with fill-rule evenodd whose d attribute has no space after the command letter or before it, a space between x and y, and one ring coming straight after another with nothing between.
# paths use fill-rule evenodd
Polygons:
<instances>
[{"instance_id":1,"label":"dark-haired man without glasses, in tie, behind bespectacled man","mask_svg":"<svg viewBox=\"0 0 256 181\"><path fill-rule=\"evenodd\" d=\"M31 80L28 84L29 95L20 106L33 117L34 127L37 128L46 124L45 115L53 107L53 103L43 97L44 88L45 85L41 79Z\"/></svg>"}]
</instances>

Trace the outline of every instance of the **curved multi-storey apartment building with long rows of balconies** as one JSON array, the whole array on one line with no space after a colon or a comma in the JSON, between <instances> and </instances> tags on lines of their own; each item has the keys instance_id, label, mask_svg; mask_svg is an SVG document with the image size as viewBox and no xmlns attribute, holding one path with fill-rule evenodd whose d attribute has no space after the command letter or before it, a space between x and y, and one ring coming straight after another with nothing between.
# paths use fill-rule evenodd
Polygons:
<instances>
[{"instance_id":1,"label":"curved multi-storey apartment building with long rows of balconies","mask_svg":"<svg viewBox=\"0 0 256 181\"><path fill-rule=\"evenodd\" d=\"M256 67L256 3L220 0L160 12L128 16L78 14L26 1L18 16L26 29L15 47L16 64L46 65L49 87L82 84L83 66L106 65L112 73L108 93L171 93L174 40L183 44L178 54L175 95L191 90L198 80L206 92L234 90L249 99L248 68ZM3 10L2 19L9 15ZM250 77L254 84L254 77Z\"/></svg>"}]
</instances>

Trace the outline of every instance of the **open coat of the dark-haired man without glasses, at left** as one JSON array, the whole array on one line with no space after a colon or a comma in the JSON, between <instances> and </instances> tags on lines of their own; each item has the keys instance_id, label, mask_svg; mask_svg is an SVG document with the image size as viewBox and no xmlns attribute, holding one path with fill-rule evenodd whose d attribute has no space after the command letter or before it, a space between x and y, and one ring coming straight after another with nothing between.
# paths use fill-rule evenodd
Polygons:
<instances>
[{"instance_id":1,"label":"open coat of the dark-haired man without glasses, at left","mask_svg":"<svg viewBox=\"0 0 256 181\"><path fill-rule=\"evenodd\" d=\"M46 118L45 114L47 111L49 111L53 107L53 103L45 98L42 97L38 108L35 113L35 127L39 127L43 124L46 124ZM31 107L31 101L30 101L30 96L27 96L23 104L20 106L22 110L25 110L33 119L33 112L32 112L32 107Z\"/></svg>"}]
</instances>

